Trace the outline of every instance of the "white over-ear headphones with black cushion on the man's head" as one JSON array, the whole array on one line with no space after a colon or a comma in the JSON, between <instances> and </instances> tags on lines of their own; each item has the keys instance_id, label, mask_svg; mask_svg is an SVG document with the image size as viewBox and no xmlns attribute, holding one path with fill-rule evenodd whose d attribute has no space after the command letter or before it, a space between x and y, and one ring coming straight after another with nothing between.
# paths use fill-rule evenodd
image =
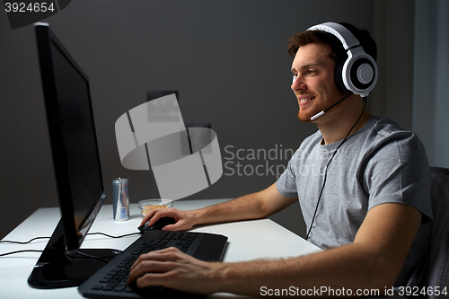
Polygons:
<instances>
[{"instance_id":1,"label":"white over-ear headphones with black cushion on the man's head","mask_svg":"<svg viewBox=\"0 0 449 299\"><path fill-rule=\"evenodd\" d=\"M323 22L307 31L325 31L336 36L348 53L348 58L335 67L335 83L341 92L366 97L377 82L377 65L365 53L354 34L336 22Z\"/></svg>"}]
</instances>

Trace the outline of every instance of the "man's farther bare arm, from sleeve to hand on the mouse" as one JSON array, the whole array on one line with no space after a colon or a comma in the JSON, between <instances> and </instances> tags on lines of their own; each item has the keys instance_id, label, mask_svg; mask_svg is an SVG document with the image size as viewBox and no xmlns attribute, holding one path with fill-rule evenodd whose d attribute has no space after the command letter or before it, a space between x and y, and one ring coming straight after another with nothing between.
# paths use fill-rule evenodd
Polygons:
<instances>
[{"instance_id":1,"label":"man's farther bare arm, from sleeve to hand on the mouse","mask_svg":"<svg viewBox=\"0 0 449 299\"><path fill-rule=\"evenodd\" d=\"M174 208L153 210L145 215L142 224L149 221L153 225L161 217L172 217L176 224L167 225L166 230L189 230L198 224L216 224L239 220L260 219L290 206L297 198L286 198L279 194L276 183L260 192L225 203L193 211L180 211Z\"/></svg>"}]
</instances>

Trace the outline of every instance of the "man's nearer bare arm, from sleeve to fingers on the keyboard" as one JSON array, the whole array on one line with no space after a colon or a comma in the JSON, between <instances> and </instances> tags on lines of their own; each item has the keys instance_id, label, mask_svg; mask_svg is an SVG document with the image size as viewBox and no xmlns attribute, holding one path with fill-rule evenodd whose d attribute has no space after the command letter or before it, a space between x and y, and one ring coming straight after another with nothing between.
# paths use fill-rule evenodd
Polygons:
<instances>
[{"instance_id":1,"label":"man's nearer bare arm, from sleeve to fingers on the keyboard","mask_svg":"<svg viewBox=\"0 0 449 299\"><path fill-rule=\"evenodd\" d=\"M379 205L368 212L353 243L295 259L208 263L176 249L154 251L137 260L129 281L203 294L260 295L261 286L344 287L354 295L357 289L378 289L382 294L398 277L420 221L413 207Z\"/></svg>"}]
</instances>

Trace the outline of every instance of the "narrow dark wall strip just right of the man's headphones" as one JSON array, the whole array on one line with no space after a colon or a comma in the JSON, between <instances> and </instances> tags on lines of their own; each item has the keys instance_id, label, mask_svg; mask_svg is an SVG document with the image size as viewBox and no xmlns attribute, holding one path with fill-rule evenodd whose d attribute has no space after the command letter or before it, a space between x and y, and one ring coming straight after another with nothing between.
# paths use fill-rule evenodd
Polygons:
<instances>
[{"instance_id":1,"label":"narrow dark wall strip just right of the man's headphones","mask_svg":"<svg viewBox=\"0 0 449 299\"><path fill-rule=\"evenodd\" d=\"M374 115L411 129L413 98L414 1L374 1L373 35L379 80L370 102Z\"/></svg>"}]
</instances>

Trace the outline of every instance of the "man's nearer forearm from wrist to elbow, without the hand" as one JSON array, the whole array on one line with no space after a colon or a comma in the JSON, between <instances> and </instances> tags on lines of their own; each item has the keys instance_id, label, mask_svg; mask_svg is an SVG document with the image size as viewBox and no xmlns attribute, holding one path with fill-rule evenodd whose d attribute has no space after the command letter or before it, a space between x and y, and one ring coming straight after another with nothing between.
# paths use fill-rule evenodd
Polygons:
<instances>
[{"instance_id":1,"label":"man's nearer forearm from wrist to elbow, without the hand","mask_svg":"<svg viewBox=\"0 0 449 299\"><path fill-rule=\"evenodd\" d=\"M382 295L398 275L383 259L376 259L357 244L295 259L217 264L216 269L221 273L216 281L218 292L241 295L263 295L263 290L292 286L295 290L344 287L352 295L357 295L357 290L373 289Z\"/></svg>"}]
</instances>

